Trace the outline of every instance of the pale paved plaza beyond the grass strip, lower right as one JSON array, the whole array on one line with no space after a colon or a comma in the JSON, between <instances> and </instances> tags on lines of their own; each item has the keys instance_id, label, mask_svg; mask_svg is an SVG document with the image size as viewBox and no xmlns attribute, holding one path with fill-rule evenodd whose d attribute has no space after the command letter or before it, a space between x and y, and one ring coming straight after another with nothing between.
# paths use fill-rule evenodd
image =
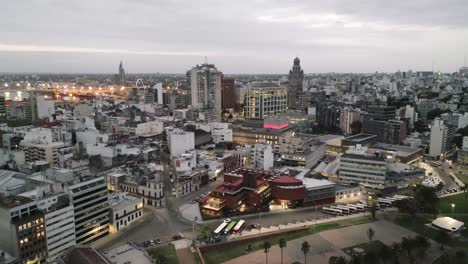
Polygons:
<instances>
[{"instance_id":1,"label":"pale paved plaza beyond the grass strip, lower right","mask_svg":"<svg viewBox=\"0 0 468 264\"><path fill-rule=\"evenodd\" d=\"M311 251L307 256L308 263L326 264L328 263L330 256L347 256L342 249L368 242L369 240L366 235L366 230L369 228L374 229L375 240L380 240L387 245L401 241L404 236L416 235L410 230L404 229L385 220L324 231L318 234L288 241L287 246L284 249L285 263L292 263L294 261L299 261L301 263L304 262L304 254L301 251L301 244L304 241L307 241L311 246ZM280 263L280 252L281 251L278 246L273 246L269 253L268 263ZM432 263L432 261L441 254L442 252L438 249L437 244L431 241L431 248L427 251L425 256L419 258L418 263ZM259 250L225 263L265 263L265 253L263 250Z\"/></svg>"}]
</instances>

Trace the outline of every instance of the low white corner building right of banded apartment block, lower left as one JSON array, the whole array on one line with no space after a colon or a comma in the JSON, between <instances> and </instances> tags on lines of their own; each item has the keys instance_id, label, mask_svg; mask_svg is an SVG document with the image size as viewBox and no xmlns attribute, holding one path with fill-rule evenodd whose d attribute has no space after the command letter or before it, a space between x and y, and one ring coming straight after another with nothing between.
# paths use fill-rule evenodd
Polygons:
<instances>
[{"instance_id":1,"label":"low white corner building right of banded apartment block, lower left","mask_svg":"<svg viewBox=\"0 0 468 264\"><path fill-rule=\"evenodd\" d=\"M116 233L143 217L143 198L116 192L109 197L109 232Z\"/></svg>"}]
</instances>

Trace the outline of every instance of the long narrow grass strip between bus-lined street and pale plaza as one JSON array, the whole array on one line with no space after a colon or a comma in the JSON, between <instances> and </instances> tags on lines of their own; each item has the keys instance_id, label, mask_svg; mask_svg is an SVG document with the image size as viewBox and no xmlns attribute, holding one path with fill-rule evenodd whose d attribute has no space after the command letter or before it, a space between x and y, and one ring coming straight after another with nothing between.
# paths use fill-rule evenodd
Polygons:
<instances>
[{"instance_id":1,"label":"long narrow grass strip between bus-lined street and pale plaza","mask_svg":"<svg viewBox=\"0 0 468 264\"><path fill-rule=\"evenodd\" d=\"M207 251L203 254L205 258L205 262L208 264L218 264L218 263L223 263L225 261L228 261L233 258L240 257L244 254L248 254L247 248L250 245L251 250L260 250L263 249L263 243L264 241L270 242L272 246L277 245L279 243L279 240L281 238L286 239L287 241L293 240L296 238L301 238L304 236L312 235L321 231L325 230L330 230L330 229L336 229L344 226L349 226L349 225L357 225L357 224L364 224L370 222L370 218L367 216L363 217L357 217L357 218L352 218L352 219L346 219L346 220L341 220L341 221L336 221L336 222L330 222L330 223L324 223L324 224L319 224L316 226L312 226L309 229L307 229L304 232L299 232L299 233L293 233L293 234L288 234L284 236L277 236L277 237L270 237L268 239L259 239L255 241L249 241L245 242L242 244L237 244L229 247L224 247L222 250L220 249L214 249Z\"/></svg>"}]
</instances>

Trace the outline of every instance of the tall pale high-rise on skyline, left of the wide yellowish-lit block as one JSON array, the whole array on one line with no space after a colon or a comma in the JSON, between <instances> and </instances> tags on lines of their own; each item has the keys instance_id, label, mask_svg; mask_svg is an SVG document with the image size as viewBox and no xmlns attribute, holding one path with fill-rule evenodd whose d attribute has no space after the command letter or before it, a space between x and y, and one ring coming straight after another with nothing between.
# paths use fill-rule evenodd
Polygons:
<instances>
[{"instance_id":1,"label":"tall pale high-rise on skyline, left of the wide yellowish-lit block","mask_svg":"<svg viewBox=\"0 0 468 264\"><path fill-rule=\"evenodd\" d=\"M221 76L213 64L199 64L187 72L190 80L192 106L212 109L221 117Z\"/></svg>"}]
</instances>

